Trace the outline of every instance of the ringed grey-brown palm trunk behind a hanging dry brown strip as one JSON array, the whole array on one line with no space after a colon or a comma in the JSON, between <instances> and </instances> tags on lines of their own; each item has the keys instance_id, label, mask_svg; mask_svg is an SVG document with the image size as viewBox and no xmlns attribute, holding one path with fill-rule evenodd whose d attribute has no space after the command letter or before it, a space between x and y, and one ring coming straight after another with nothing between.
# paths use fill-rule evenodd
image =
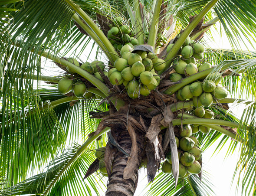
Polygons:
<instances>
[{"instance_id":1,"label":"ringed grey-brown palm trunk behind a hanging dry brown strip","mask_svg":"<svg viewBox=\"0 0 256 196\"><path fill-rule=\"evenodd\" d=\"M128 131L119 130L118 144L128 153L131 152L131 138ZM108 189L106 196L133 196L138 183L138 170L141 158L144 152L144 136L136 133L138 145L138 161L130 179L124 180L123 173L126 167L128 157L122 152L114 157L112 173L109 177Z\"/></svg>"}]
</instances>

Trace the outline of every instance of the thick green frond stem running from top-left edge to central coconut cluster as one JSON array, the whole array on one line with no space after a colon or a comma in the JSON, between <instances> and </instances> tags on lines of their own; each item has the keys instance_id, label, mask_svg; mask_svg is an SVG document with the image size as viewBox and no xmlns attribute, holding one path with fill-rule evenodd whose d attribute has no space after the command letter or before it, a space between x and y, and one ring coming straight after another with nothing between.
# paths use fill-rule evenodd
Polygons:
<instances>
[{"instance_id":1,"label":"thick green frond stem running from top-left edge to central coconut cluster","mask_svg":"<svg viewBox=\"0 0 256 196\"><path fill-rule=\"evenodd\" d=\"M118 54L115 52L115 49L112 46L112 44L109 42L108 38L104 35L101 29L98 28L98 26L80 7L75 5L75 3L73 3L71 0L65 0L65 1L82 18L82 20L84 20L85 23L92 29L92 32L96 34L99 42L102 42L102 45L106 49L105 53L106 54L108 53L107 56L110 56L109 60L112 62L112 64L114 64L115 60L118 59L119 57L118 57Z\"/></svg>"}]
</instances>

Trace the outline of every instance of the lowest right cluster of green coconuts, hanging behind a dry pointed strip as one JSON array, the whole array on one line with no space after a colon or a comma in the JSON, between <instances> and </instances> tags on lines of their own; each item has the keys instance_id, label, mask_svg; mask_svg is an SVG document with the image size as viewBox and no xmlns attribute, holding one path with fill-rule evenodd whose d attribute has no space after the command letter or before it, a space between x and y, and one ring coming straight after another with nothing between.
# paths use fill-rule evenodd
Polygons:
<instances>
[{"instance_id":1,"label":"lowest right cluster of green coconuts, hanging behind a dry pointed strip","mask_svg":"<svg viewBox=\"0 0 256 196\"><path fill-rule=\"evenodd\" d=\"M179 129L180 139L175 137L179 157L179 178L187 178L190 174L198 174L202 167L198 160L202 157L202 150L198 147L199 142L192 136L192 127L184 125ZM166 154L161 170L164 173L172 173L171 151Z\"/></svg>"}]
</instances>

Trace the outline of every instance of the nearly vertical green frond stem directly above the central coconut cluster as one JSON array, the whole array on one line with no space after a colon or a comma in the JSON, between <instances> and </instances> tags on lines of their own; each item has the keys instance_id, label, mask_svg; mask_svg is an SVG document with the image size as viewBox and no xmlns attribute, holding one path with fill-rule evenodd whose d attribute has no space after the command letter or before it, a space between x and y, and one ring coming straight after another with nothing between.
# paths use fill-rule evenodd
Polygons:
<instances>
[{"instance_id":1,"label":"nearly vertical green frond stem directly above the central coconut cluster","mask_svg":"<svg viewBox=\"0 0 256 196\"><path fill-rule=\"evenodd\" d=\"M139 0L133 0L133 7L135 11L135 33L138 35L137 39L139 42L139 45L144 44L144 35L143 35L143 22L141 17L141 7Z\"/></svg>"}]
</instances>

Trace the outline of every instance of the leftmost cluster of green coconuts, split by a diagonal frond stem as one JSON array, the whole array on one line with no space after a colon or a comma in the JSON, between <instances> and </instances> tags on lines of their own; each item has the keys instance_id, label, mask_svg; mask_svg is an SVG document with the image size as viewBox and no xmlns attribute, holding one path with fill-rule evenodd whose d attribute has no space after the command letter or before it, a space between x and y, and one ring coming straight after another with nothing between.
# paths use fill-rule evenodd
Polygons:
<instances>
[{"instance_id":1,"label":"leftmost cluster of green coconuts, split by a diagonal frond stem","mask_svg":"<svg viewBox=\"0 0 256 196\"><path fill-rule=\"evenodd\" d=\"M96 68L96 65L98 65L100 67L100 69L103 71L103 73L105 75L108 75L108 72L105 72L105 64L102 61L93 61L93 62L85 62L83 63L81 66L79 64L79 62L74 59L74 58L67 58L67 60L69 62L71 62L72 64L80 67L81 69L84 69L86 72L89 72L90 74L94 75L96 78L98 78L100 81L103 81L103 78L101 77L101 75L98 72L98 69ZM68 72L74 74L75 71L70 68L67 67ZM73 91L73 93L75 94L75 96L77 98L83 98L85 97L86 99L92 98L94 96L93 93L89 92L88 89L86 88L86 85L84 82L82 82L81 80L72 80L69 78L62 78L59 82L58 82L58 91L60 94L62 95L66 95L67 93L69 93L70 91ZM96 98L98 98L98 95L95 95Z\"/></svg>"}]
</instances>

